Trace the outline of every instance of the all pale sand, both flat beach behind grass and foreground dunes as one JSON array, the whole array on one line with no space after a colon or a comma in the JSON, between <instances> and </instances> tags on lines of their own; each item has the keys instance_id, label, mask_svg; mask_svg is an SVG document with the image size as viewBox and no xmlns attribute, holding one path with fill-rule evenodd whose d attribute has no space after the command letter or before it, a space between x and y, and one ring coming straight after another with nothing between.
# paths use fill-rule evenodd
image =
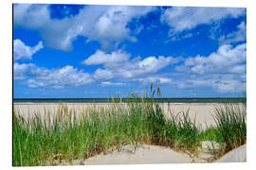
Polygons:
<instances>
[{"instance_id":1,"label":"all pale sand, both flat beach behind grass and foreground dunes","mask_svg":"<svg viewBox=\"0 0 256 170\"><path fill-rule=\"evenodd\" d=\"M81 113L89 107L106 108L107 104L64 104L68 110L75 110ZM220 104L172 104L170 110L175 114L184 110L190 110L189 116L194 119L196 125L202 128L214 126L214 109ZM24 116L29 116L34 112L44 115L44 112L49 111L54 114L58 110L59 104L16 104L14 103L14 110ZM170 116L167 104L161 104L165 115ZM242 150L242 151L241 151ZM241 152L241 153L240 153ZM231 156L230 156L231 155ZM197 158L192 158L186 153L176 152L171 148L158 145L140 145L136 148L125 145L121 151L115 150L109 154L100 154L84 161L73 161L72 164L144 164L144 163L191 163L191 162L209 162L212 161L213 155L201 154ZM235 160L232 158L236 158ZM234 151L231 151L221 160L216 162L230 162L230 161L246 161L246 146L242 146ZM66 163L66 162L65 162ZM67 165L63 163L64 165Z\"/></svg>"}]
</instances>

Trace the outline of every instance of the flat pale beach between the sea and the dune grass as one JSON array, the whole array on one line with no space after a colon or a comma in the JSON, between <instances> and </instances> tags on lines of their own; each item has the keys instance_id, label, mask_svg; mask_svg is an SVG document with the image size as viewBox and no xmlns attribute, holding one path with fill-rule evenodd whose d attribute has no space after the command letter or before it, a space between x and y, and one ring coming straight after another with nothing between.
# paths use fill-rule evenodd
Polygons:
<instances>
[{"instance_id":1,"label":"flat pale beach between the sea and the dune grass","mask_svg":"<svg viewBox=\"0 0 256 170\"><path fill-rule=\"evenodd\" d=\"M81 113L83 110L86 110L90 107L96 107L96 108L106 108L111 106L111 104L81 104L81 103L64 103L64 106L67 106L68 110L74 110L77 113ZM125 104L123 104L125 105ZM213 114L215 107L221 106L223 104L171 104L170 108L168 109L168 104L160 104L161 107L164 110L164 113L166 117L170 116L170 111L174 114L177 114L181 111L189 110L189 116L192 120L195 121L196 125L198 127L202 127L205 129L206 127L214 126L214 119ZM240 105L240 104L238 104ZM14 103L14 110L22 114L24 116L31 115L33 113L40 113L44 114L46 112L50 112L51 114L54 114L54 112L57 112L59 107L59 104L56 103L41 103L41 104L34 104L34 103Z\"/></svg>"}]
</instances>

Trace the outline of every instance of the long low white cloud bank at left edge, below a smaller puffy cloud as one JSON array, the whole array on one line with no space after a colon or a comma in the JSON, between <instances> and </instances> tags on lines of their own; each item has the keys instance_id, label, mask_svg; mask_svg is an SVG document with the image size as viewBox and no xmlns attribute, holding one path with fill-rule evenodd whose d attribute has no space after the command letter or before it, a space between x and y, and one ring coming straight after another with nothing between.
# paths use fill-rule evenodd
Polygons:
<instances>
[{"instance_id":1,"label":"long low white cloud bank at left edge, below a smaller puffy cloud","mask_svg":"<svg viewBox=\"0 0 256 170\"><path fill-rule=\"evenodd\" d=\"M82 86L94 82L89 74L70 65L60 69L48 70L31 63L14 63L13 70L14 80L23 79L22 82L32 88L52 87L60 89L65 86Z\"/></svg>"}]
</instances>

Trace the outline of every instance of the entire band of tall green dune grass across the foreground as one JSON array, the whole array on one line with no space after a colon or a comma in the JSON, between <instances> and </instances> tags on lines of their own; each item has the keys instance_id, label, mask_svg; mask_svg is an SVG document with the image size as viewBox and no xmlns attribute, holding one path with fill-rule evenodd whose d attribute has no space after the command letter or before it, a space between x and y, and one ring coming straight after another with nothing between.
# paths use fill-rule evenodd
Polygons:
<instances>
[{"instance_id":1,"label":"entire band of tall green dune grass across the foreground","mask_svg":"<svg viewBox=\"0 0 256 170\"><path fill-rule=\"evenodd\" d=\"M107 108L90 107L81 114L60 105L56 114L23 117L13 112L13 166L54 165L87 159L120 149L124 144L165 145L196 153L202 140L226 144L228 151L246 143L245 110L216 109L217 127L202 131L189 117L189 110L170 118L161 106L135 96L127 105L112 99ZM160 90L157 89L157 95ZM227 117L228 113L228 117ZM243 115L243 116L241 116ZM235 131L235 133L234 133Z\"/></svg>"}]
</instances>

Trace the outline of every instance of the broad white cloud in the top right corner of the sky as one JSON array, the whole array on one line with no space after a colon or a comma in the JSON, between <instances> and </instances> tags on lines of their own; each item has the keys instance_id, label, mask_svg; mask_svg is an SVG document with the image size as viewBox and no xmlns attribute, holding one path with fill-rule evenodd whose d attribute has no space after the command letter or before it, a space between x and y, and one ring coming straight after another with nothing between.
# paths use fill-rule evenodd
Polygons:
<instances>
[{"instance_id":1,"label":"broad white cloud in the top right corner of the sky","mask_svg":"<svg viewBox=\"0 0 256 170\"><path fill-rule=\"evenodd\" d=\"M173 7L163 12L161 22L171 26L174 32L180 32L228 17L237 18L245 13L246 8Z\"/></svg>"}]
</instances>

